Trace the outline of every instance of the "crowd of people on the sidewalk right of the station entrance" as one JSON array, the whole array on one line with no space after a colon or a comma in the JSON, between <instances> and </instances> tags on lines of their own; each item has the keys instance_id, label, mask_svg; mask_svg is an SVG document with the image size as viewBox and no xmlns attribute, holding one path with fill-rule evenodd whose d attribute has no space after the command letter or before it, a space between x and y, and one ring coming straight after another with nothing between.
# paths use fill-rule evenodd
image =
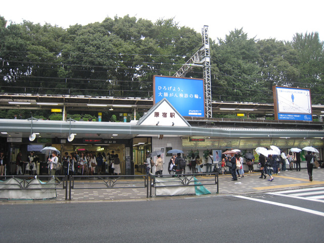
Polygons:
<instances>
[{"instance_id":1,"label":"crowd of people on the sidewalk right of the station entrance","mask_svg":"<svg viewBox=\"0 0 324 243\"><path fill-rule=\"evenodd\" d=\"M313 165L311 161L319 160L318 156L315 152L308 151L305 155L307 172L309 175L309 180L312 181L312 169ZM244 163L248 166L248 173L254 173L254 158L246 158L242 156L240 152L235 154L222 154L222 159L220 163L215 164L213 162L212 152L206 156L207 166L206 173L218 172L219 174L226 174L227 168L232 176L232 181L237 181L242 177L245 177L245 172L243 169ZM258 169L260 169L261 176L259 178L266 179L268 177L268 181L273 181L274 178L272 175L278 175L280 171L287 170L296 170L300 171L300 163L301 163L301 153L300 152L292 152L290 151L287 156L284 151L280 150L280 154L264 156L262 153L259 155L259 163ZM155 161L149 157L149 154L146 154L146 173L153 173L153 167L155 166L155 175L162 176L163 172L163 160L160 155L157 155L157 159ZM214 170L212 171L212 166L215 165ZM192 170L192 174L202 173L202 168L204 167L203 160L199 157L199 155L195 155L194 153L186 160L181 157L181 153L172 154L172 157L168 164L168 172L169 174L185 174L186 166L189 166L190 170Z\"/></svg>"}]
</instances>

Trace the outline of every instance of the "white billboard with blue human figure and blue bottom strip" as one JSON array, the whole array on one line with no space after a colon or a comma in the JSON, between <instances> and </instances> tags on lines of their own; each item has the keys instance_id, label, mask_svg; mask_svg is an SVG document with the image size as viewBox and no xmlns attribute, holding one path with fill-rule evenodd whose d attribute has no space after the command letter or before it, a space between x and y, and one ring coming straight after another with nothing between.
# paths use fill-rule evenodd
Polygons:
<instances>
[{"instance_id":1,"label":"white billboard with blue human figure and blue bottom strip","mask_svg":"<svg viewBox=\"0 0 324 243\"><path fill-rule=\"evenodd\" d=\"M309 89L273 86L272 90L276 120L312 121Z\"/></svg>"}]
</instances>

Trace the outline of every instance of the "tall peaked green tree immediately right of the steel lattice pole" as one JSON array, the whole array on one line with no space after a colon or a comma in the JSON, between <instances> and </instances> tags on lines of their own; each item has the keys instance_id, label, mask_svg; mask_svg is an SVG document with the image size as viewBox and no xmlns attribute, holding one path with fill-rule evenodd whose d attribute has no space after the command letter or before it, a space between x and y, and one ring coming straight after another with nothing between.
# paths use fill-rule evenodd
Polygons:
<instances>
[{"instance_id":1,"label":"tall peaked green tree immediately right of the steel lattice pole","mask_svg":"<svg viewBox=\"0 0 324 243\"><path fill-rule=\"evenodd\" d=\"M259 51L254 38L242 29L235 29L211 45L213 70L212 95L215 100L252 101L259 92Z\"/></svg>"}]
</instances>

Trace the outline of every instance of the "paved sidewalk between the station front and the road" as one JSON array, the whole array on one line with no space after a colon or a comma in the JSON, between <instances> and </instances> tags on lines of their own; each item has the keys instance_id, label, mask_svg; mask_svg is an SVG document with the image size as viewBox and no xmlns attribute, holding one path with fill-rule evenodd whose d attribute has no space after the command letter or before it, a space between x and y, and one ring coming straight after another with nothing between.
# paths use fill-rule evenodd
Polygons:
<instances>
[{"instance_id":1,"label":"paved sidewalk between the station front and the road","mask_svg":"<svg viewBox=\"0 0 324 243\"><path fill-rule=\"evenodd\" d=\"M219 176L219 195L226 194L241 194L249 192L258 191L269 191L269 190L280 190L288 188L302 188L311 187L316 185L324 184L324 169L313 169L313 181L310 182L308 179L307 170L303 169L300 172L297 171L285 171L278 175L274 175L274 180L272 182L268 181L269 177L266 179L260 179L260 172L255 172L253 174L246 173L245 177L241 177L237 181L231 181L230 175L220 175ZM199 178L210 178L213 179L214 176L197 176ZM134 184L137 181L143 181L139 179L125 180L126 184ZM87 189L87 187L93 187L87 183L78 182L76 188L71 191L72 201L104 201L104 200L134 200L142 199L146 200L147 188L107 188L107 189ZM60 186L60 185L59 185ZM61 187L61 186L60 186ZM211 191L212 195L216 195L217 186L207 185L206 188ZM162 198L160 196L155 197L155 189L153 188L152 196L148 199ZM175 198L177 196L172 196ZM170 198L170 196L163 197ZM54 199L44 199L44 200L7 200L0 199L0 203L17 203L17 202L56 202L63 203L65 200L65 190L57 190L57 198Z\"/></svg>"}]
</instances>

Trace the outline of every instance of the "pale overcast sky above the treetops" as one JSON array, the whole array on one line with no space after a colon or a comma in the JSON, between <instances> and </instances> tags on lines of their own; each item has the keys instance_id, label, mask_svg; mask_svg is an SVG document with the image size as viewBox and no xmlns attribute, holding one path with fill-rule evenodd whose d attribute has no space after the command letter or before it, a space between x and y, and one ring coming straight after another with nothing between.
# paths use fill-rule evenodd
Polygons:
<instances>
[{"instance_id":1,"label":"pale overcast sky above the treetops","mask_svg":"<svg viewBox=\"0 0 324 243\"><path fill-rule=\"evenodd\" d=\"M317 31L320 39L324 39L324 1L320 0L11 0L3 1L0 6L0 15L8 21L47 22L64 28L128 14L152 22L175 17L180 26L199 33L208 25L209 36L214 40L241 27L249 38L291 41L296 32Z\"/></svg>"}]
</instances>

